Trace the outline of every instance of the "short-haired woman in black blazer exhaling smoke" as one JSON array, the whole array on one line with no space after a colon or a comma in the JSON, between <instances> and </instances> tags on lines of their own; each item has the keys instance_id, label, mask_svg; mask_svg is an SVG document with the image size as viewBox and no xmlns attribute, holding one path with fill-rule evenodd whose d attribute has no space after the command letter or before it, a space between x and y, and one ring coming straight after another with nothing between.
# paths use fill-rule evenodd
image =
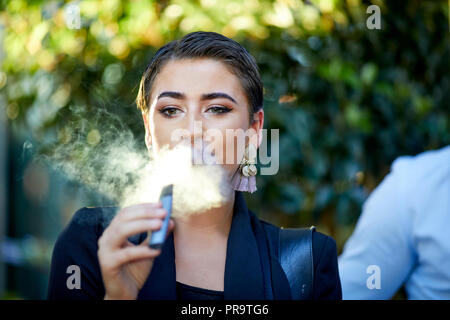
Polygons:
<instances>
[{"instance_id":1,"label":"short-haired woman in black blazer exhaling smoke","mask_svg":"<svg viewBox=\"0 0 450 320\"><path fill-rule=\"evenodd\" d=\"M199 138L196 121L203 130L224 134L254 129L257 137L250 141L259 146L264 112L258 67L239 43L223 35L193 32L160 48L142 76L137 105L146 145L155 154L174 145L174 130ZM230 146L223 149L237 153ZM242 168L239 163L223 167L230 176ZM160 203L121 208L117 214L113 208L80 209L54 247L48 298L292 299L278 259L280 228L248 210L242 191L253 191L254 177L238 174L249 179L244 189L237 187L220 207L171 219L158 250L143 239L162 225L167 212ZM312 253L308 299L341 299L334 240L313 232ZM81 276L78 288L67 285L73 265Z\"/></svg>"}]
</instances>

